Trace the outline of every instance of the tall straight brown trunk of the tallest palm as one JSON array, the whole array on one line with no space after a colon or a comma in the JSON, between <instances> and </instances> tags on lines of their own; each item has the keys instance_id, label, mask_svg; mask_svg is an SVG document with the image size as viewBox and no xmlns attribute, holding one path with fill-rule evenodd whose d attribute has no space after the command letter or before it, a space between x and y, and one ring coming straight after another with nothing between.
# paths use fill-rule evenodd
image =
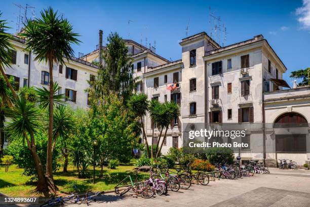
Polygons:
<instances>
[{"instance_id":1,"label":"tall straight brown trunk of the tallest palm","mask_svg":"<svg viewBox=\"0 0 310 207\"><path fill-rule=\"evenodd\" d=\"M53 178L53 113L54 113L54 82L53 82L53 59L49 57L49 69L50 69L50 105L49 105L49 137L46 156L46 171L45 177L48 181L49 187L52 191L56 192L57 187L54 184Z\"/></svg>"}]
</instances>

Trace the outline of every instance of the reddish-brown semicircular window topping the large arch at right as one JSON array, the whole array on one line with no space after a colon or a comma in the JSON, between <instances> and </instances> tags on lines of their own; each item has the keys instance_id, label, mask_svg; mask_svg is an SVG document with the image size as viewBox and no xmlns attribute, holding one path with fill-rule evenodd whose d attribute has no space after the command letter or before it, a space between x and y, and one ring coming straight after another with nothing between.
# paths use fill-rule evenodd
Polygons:
<instances>
[{"instance_id":1,"label":"reddish-brown semicircular window topping the large arch at right","mask_svg":"<svg viewBox=\"0 0 310 207\"><path fill-rule=\"evenodd\" d=\"M307 127L307 120L300 114L290 112L279 116L274 124L274 128L280 127Z\"/></svg>"}]
</instances>

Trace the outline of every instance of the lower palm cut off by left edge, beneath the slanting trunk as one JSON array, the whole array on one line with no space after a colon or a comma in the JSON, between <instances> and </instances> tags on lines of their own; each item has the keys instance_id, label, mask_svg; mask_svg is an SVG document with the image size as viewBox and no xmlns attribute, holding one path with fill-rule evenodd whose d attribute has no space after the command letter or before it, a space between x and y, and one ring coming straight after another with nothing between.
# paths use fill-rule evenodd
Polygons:
<instances>
[{"instance_id":1,"label":"lower palm cut off by left edge, beneath the slanting trunk","mask_svg":"<svg viewBox=\"0 0 310 207\"><path fill-rule=\"evenodd\" d=\"M13 82L13 80L10 80ZM5 108L13 106L12 91L8 87L5 78L0 74L0 157L2 157L2 150L4 145L4 123L6 121Z\"/></svg>"}]
</instances>

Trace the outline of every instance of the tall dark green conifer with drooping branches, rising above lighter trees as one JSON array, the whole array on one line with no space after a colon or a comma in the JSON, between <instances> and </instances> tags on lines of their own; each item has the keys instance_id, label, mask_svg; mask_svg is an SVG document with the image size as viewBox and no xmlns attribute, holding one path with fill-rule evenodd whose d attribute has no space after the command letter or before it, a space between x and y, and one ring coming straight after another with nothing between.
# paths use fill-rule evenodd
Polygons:
<instances>
[{"instance_id":1,"label":"tall dark green conifer with drooping branches, rising above lighter trees","mask_svg":"<svg viewBox=\"0 0 310 207\"><path fill-rule=\"evenodd\" d=\"M99 65L98 77L91 89L95 97L104 97L109 93L117 94L126 103L134 89L132 60L128 48L117 32L110 33L109 42L103 55L103 65Z\"/></svg>"}]
</instances>

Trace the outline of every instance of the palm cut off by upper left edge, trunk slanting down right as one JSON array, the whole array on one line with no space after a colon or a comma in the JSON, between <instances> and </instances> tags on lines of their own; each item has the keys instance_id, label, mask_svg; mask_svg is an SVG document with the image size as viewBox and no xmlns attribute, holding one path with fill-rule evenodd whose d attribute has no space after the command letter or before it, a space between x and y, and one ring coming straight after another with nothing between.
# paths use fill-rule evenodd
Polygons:
<instances>
[{"instance_id":1,"label":"palm cut off by upper left edge, trunk slanting down right","mask_svg":"<svg viewBox=\"0 0 310 207\"><path fill-rule=\"evenodd\" d=\"M1 16L2 12L0 12L0 18ZM17 94L14 91L12 84L8 79L4 69L5 66L10 67L10 64L12 62L12 57L8 52L11 48L13 48L13 45L10 42L12 40L12 36L11 34L5 32L9 28L10 27L7 26L7 21L0 19L0 72L5 79L7 85L9 86L10 90L12 91L13 97L17 98Z\"/></svg>"}]
</instances>

